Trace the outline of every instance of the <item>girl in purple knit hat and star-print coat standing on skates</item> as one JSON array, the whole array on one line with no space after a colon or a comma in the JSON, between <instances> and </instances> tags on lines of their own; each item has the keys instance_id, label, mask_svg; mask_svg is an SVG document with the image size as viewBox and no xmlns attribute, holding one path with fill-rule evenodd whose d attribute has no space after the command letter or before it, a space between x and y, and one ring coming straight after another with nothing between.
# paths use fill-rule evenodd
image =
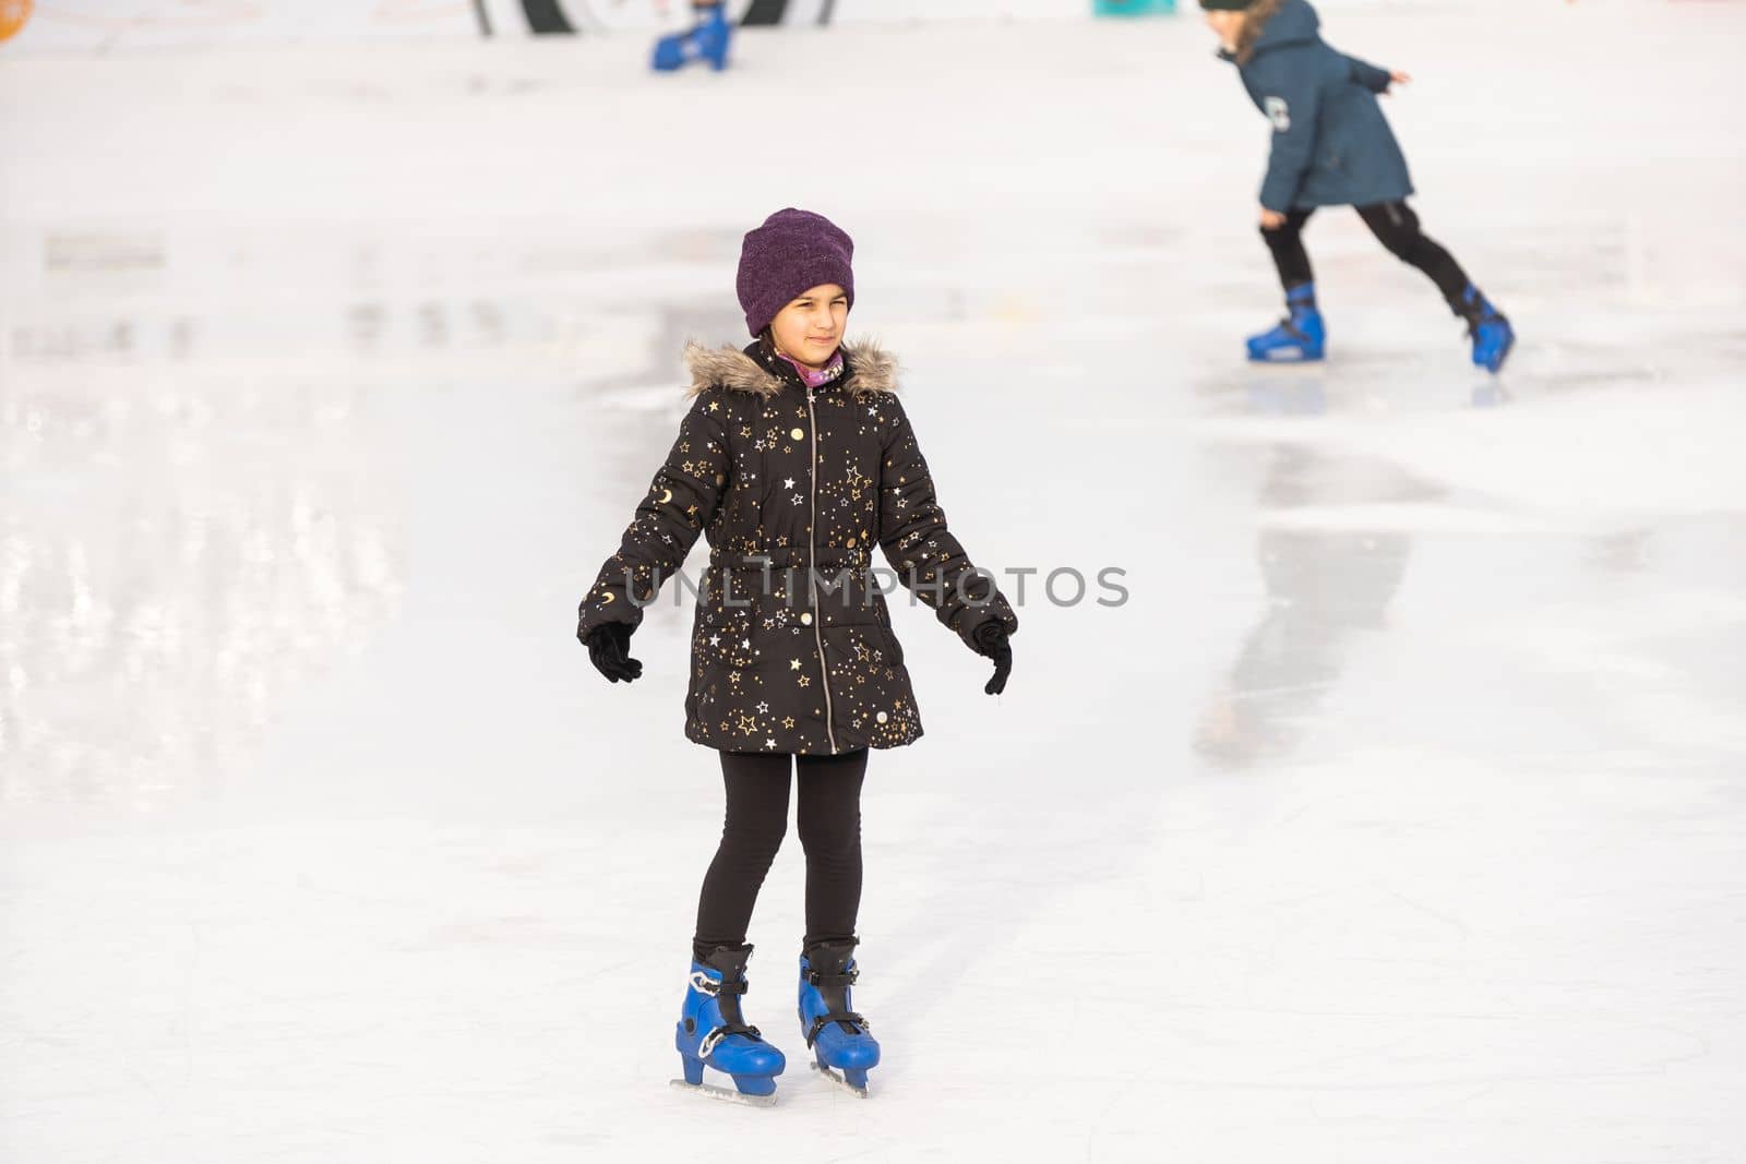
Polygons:
<instances>
[{"instance_id":1,"label":"girl in purple knit hat and star-print coat standing on skates","mask_svg":"<svg viewBox=\"0 0 1746 1164\"><path fill-rule=\"evenodd\" d=\"M843 344L852 255L847 234L800 209L746 236L739 298L756 339L744 351L686 349L691 407L576 630L608 679L637 679L643 665L627 647L641 607L707 537L684 733L721 754L726 822L674 1045L683 1085L700 1087L714 1066L735 1091L704 1091L747 1103L773 1103L786 1065L740 1000L746 930L787 827L791 770L807 852L800 1033L814 1065L859 1094L880 1056L850 1005L861 784L870 750L913 743L922 719L870 574L873 544L941 623L993 660L992 695L1006 686L1018 630L946 529L894 361L873 344Z\"/></svg>"}]
</instances>

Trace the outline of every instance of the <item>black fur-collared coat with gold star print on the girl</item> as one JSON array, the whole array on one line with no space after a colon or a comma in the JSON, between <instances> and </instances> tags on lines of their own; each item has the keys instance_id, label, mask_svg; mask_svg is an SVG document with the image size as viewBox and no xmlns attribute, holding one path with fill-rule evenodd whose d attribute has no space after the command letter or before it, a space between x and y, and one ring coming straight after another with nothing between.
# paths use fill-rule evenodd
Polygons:
<instances>
[{"instance_id":1,"label":"black fur-collared coat with gold star print on the girl","mask_svg":"<svg viewBox=\"0 0 1746 1164\"><path fill-rule=\"evenodd\" d=\"M684 696L684 735L697 743L836 754L922 736L870 572L875 543L967 647L990 620L1018 632L992 576L946 527L897 400L896 361L873 344L842 354L843 373L808 389L763 342L686 346L691 407L581 602L583 635L609 621L636 627L705 536Z\"/></svg>"}]
</instances>

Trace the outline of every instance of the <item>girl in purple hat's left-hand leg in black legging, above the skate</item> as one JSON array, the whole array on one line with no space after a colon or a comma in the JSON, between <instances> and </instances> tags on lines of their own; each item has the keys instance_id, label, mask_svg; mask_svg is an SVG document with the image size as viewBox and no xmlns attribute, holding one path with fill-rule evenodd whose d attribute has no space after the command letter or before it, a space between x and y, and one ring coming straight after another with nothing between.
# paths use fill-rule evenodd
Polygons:
<instances>
[{"instance_id":1,"label":"girl in purple hat's left-hand leg in black legging, above the skate","mask_svg":"<svg viewBox=\"0 0 1746 1164\"><path fill-rule=\"evenodd\" d=\"M698 960L716 946L744 946L770 862L787 832L787 752L721 752L721 782L728 806L721 845L704 874L697 902L693 953Z\"/></svg>"}]
</instances>

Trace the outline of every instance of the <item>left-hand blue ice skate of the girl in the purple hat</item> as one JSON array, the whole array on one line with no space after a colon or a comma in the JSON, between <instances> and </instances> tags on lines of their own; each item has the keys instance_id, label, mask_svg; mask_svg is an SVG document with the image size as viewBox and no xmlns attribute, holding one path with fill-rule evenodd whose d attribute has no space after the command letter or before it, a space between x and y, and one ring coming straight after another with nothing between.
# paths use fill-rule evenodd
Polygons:
<instances>
[{"instance_id":1,"label":"left-hand blue ice skate of the girl in the purple hat","mask_svg":"<svg viewBox=\"0 0 1746 1164\"><path fill-rule=\"evenodd\" d=\"M740 1014L751 955L751 946L716 946L707 962L691 962L691 984L672 1037L684 1078L672 1080L674 1087L754 1106L775 1103L775 1077L787 1061ZM705 1084L705 1065L732 1075L735 1089Z\"/></svg>"}]
</instances>

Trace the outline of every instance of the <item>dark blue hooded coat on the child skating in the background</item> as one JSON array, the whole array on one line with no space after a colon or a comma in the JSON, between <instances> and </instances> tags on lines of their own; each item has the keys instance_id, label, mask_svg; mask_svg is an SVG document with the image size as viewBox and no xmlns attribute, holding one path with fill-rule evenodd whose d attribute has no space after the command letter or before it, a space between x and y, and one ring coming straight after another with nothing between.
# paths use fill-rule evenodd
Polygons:
<instances>
[{"instance_id":1,"label":"dark blue hooded coat on the child skating in the background","mask_svg":"<svg viewBox=\"0 0 1746 1164\"><path fill-rule=\"evenodd\" d=\"M1261 204L1285 213L1404 199L1413 194L1407 159L1376 99L1388 70L1332 49L1320 24L1308 0L1285 0L1238 65L1255 108L1273 122Z\"/></svg>"}]
</instances>

